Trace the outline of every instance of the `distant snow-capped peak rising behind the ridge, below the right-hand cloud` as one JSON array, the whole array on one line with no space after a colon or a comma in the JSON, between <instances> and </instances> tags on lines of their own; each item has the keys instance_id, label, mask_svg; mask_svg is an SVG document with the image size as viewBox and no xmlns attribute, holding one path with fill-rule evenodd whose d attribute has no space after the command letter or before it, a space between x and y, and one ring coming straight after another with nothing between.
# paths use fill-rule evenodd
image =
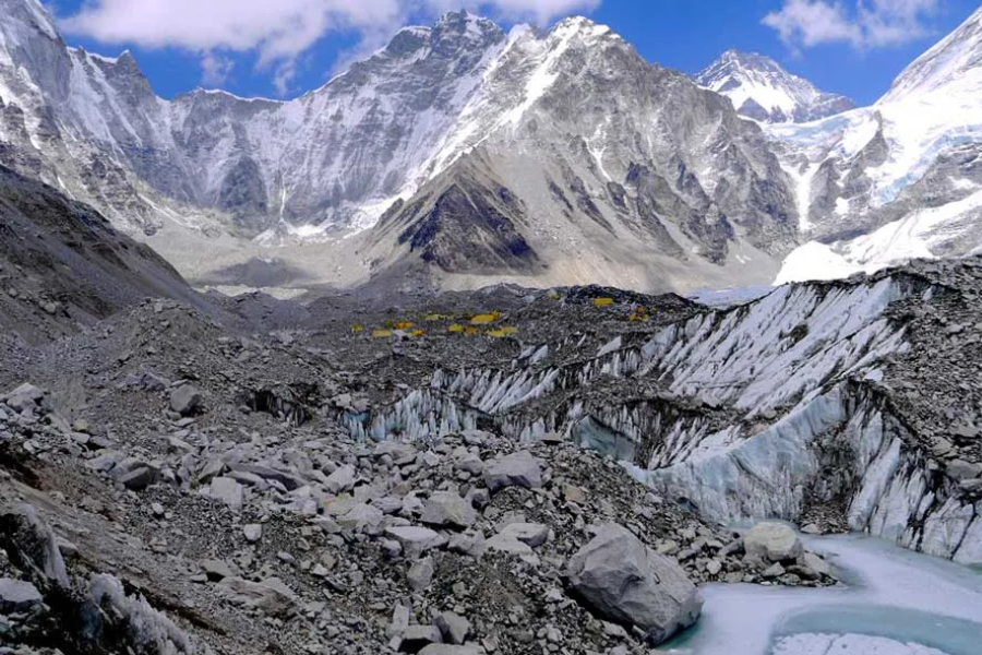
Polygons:
<instances>
[{"instance_id":1,"label":"distant snow-capped peak rising behind the ridge, below the right-hand cloud","mask_svg":"<svg viewBox=\"0 0 982 655\"><path fill-rule=\"evenodd\" d=\"M695 81L730 98L742 116L762 122L807 122L855 107L849 98L824 93L755 52L727 50Z\"/></svg>"}]
</instances>

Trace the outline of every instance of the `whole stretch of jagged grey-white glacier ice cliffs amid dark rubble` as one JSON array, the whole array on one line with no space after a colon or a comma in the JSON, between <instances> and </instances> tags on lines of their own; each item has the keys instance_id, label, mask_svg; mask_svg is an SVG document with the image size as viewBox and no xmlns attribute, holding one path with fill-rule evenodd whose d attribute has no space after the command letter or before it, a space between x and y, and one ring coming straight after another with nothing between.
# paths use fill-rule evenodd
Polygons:
<instances>
[{"instance_id":1,"label":"whole stretch of jagged grey-white glacier ice cliffs amid dark rubble","mask_svg":"<svg viewBox=\"0 0 982 655\"><path fill-rule=\"evenodd\" d=\"M429 388L348 428L373 439L478 421L520 440L560 432L712 520L795 521L835 501L852 529L982 563L982 503L932 469L879 385L881 364L909 348L886 309L932 294L905 275L789 285L644 338L532 344L511 368L436 370Z\"/></svg>"}]
</instances>

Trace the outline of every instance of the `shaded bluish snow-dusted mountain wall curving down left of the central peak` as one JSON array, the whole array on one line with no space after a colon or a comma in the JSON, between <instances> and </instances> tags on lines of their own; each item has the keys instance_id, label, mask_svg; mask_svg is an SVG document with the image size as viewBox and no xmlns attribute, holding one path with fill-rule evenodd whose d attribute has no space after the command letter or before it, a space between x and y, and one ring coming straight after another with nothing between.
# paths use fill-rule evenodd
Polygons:
<instances>
[{"instance_id":1,"label":"shaded bluish snow-dusted mountain wall curving down left of the central peak","mask_svg":"<svg viewBox=\"0 0 982 655\"><path fill-rule=\"evenodd\" d=\"M146 233L166 219L244 236L371 224L384 206L366 207L411 188L505 38L447 14L291 103L201 90L167 102L129 53L67 48L35 0L0 10L0 162Z\"/></svg>"}]
</instances>

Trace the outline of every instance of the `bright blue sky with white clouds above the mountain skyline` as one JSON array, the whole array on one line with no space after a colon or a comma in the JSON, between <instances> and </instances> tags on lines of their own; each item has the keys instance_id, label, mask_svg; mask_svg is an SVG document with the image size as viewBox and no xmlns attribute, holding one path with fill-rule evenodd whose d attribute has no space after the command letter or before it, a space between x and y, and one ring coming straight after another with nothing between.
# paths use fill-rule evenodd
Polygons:
<instances>
[{"instance_id":1,"label":"bright blue sky with white clouds above the mountain skyline","mask_svg":"<svg viewBox=\"0 0 982 655\"><path fill-rule=\"evenodd\" d=\"M586 14L652 62L695 72L728 48L778 60L819 88L874 102L978 0L43 0L71 45L131 49L165 97L195 86L292 97L398 26L467 5L508 26ZM80 13L81 12L81 13Z\"/></svg>"}]
</instances>

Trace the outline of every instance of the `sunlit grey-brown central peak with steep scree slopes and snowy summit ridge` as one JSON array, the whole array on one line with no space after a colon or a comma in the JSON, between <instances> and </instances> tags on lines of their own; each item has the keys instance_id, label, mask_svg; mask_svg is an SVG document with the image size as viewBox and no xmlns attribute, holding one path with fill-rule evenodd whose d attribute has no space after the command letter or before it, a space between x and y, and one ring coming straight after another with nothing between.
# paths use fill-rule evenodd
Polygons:
<instances>
[{"instance_id":1,"label":"sunlit grey-brown central peak with steep scree slopes and snowy summit ridge","mask_svg":"<svg viewBox=\"0 0 982 655\"><path fill-rule=\"evenodd\" d=\"M438 275L486 275L486 255L517 245L526 254L510 253L499 275L692 288L739 276L738 258L767 266L793 246L789 180L761 131L608 27L568 19L541 36L514 31L484 88L434 159L440 176L372 230L375 251L395 223ZM460 189L472 204L503 204L508 227L467 250L462 236L482 235L489 213L457 212L455 250L468 257L434 260L451 230L441 207L456 206Z\"/></svg>"}]
</instances>

